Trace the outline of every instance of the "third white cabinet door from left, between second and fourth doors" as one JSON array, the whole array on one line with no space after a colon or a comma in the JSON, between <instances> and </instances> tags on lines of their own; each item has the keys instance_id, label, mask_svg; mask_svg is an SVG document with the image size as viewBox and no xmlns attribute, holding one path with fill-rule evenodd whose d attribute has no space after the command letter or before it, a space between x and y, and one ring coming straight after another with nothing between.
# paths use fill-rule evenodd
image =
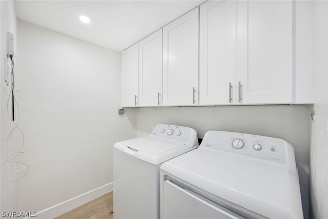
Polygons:
<instances>
[{"instance_id":1,"label":"third white cabinet door from left, between second and fourth doors","mask_svg":"<svg viewBox=\"0 0 328 219\"><path fill-rule=\"evenodd\" d=\"M163 106L198 105L199 8L163 27Z\"/></svg>"}]
</instances>

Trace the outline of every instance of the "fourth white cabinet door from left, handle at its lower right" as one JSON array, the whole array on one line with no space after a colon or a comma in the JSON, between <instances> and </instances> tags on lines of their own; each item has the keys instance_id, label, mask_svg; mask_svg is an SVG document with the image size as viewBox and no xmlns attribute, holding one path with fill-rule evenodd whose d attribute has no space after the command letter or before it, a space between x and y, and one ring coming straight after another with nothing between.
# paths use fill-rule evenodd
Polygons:
<instances>
[{"instance_id":1,"label":"fourth white cabinet door from left, handle at its lower right","mask_svg":"<svg viewBox=\"0 0 328 219\"><path fill-rule=\"evenodd\" d=\"M199 22L199 104L236 104L236 1L202 4Z\"/></svg>"}]
</instances>

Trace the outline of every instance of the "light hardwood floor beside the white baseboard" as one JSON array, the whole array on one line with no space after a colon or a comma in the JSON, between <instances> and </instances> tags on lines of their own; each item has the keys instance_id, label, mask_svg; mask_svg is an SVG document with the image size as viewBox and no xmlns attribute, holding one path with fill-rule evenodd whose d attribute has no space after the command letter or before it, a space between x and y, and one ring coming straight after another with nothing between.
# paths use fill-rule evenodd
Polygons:
<instances>
[{"instance_id":1,"label":"light hardwood floor beside the white baseboard","mask_svg":"<svg viewBox=\"0 0 328 219\"><path fill-rule=\"evenodd\" d=\"M113 192L61 214L55 219L113 219Z\"/></svg>"}]
</instances>

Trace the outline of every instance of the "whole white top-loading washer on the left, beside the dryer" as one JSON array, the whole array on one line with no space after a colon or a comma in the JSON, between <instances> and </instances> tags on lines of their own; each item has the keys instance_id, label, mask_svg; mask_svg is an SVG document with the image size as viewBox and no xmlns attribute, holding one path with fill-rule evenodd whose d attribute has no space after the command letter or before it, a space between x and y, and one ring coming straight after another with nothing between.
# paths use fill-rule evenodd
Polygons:
<instances>
[{"instance_id":1,"label":"whole white top-loading washer on the left, beside the dryer","mask_svg":"<svg viewBox=\"0 0 328 219\"><path fill-rule=\"evenodd\" d=\"M159 218L159 167L197 148L194 129L156 125L149 136L113 146L114 218Z\"/></svg>"}]
</instances>

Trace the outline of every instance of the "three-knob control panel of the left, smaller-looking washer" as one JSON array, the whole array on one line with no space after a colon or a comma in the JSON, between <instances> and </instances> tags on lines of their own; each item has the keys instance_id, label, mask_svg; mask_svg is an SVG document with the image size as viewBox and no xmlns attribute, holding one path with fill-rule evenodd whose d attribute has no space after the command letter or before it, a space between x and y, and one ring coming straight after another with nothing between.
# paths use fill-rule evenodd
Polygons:
<instances>
[{"instance_id":1,"label":"three-knob control panel of the left, smaller-looking washer","mask_svg":"<svg viewBox=\"0 0 328 219\"><path fill-rule=\"evenodd\" d=\"M188 142L192 137L192 134L192 128L165 124L156 125L155 129L151 133L153 136L168 138L179 142Z\"/></svg>"}]
</instances>

